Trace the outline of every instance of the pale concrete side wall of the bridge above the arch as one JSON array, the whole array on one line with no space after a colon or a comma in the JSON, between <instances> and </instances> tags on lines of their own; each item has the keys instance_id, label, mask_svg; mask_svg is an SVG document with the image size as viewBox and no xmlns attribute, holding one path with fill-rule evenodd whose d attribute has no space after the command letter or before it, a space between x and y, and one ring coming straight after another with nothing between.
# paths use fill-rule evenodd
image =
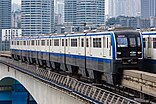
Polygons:
<instances>
[{"instance_id":1,"label":"pale concrete side wall of the bridge above the arch","mask_svg":"<svg viewBox=\"0 0 156 104\"><path fill-rule=\"evenodd\" d=\"M0 63L0 80L11 77L19 81L38 104L84 104L61 90Z\"/></svg>"}]
</instances>

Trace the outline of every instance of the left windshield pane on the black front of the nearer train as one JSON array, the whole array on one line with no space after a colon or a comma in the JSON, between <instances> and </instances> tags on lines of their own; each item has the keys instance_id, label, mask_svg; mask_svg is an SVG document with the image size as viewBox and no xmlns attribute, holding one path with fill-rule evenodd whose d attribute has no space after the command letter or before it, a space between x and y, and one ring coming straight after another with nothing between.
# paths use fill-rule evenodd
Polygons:
<instances>
[{"instance_id":1,"label":"left windshield pane on the black front of the nearer train","mask_svg":"<svg viewBox=\"0 0 156 104\"><path fill-rule=\"evenodd\" d=\"M117 37L118 47L128 47L127 37L119 36Z\"/></svg>"}]
</instances>

